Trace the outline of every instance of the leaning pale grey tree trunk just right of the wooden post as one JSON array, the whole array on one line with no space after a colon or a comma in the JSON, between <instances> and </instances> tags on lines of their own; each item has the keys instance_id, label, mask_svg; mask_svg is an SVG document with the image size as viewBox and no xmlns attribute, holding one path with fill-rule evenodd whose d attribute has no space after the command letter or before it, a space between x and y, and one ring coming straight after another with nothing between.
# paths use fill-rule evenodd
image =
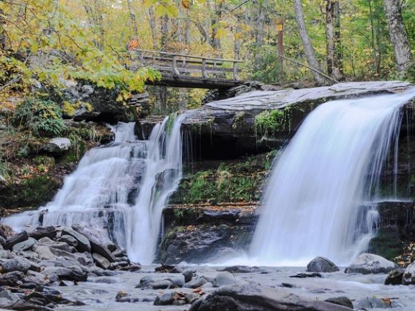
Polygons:
<instances>
[{"instance_id":1,"label":"leaning pale grey tree trunk just right of the wooden post","mask_svg":"<svg viewBox=\"0 0 415 311\"><path fill-rule=\"evenodd\" d=\"M299 37L301 38L302 44L304 46L304 51L306 53L308 65L315 70L322 72L320 68L317 58L315 57L315 52L313 45L311 44L310 36L308 36L308 32L306 29L306 23L304 21L304 12L302 10L302 3L301 0L294 0L294 12L295 12L295 19L297 20L298 32ZM320 73L316 73L314 70L311 70L315 81L317 84L324 85L326 84L326 79Z\"/></svg>"}]
</instances>

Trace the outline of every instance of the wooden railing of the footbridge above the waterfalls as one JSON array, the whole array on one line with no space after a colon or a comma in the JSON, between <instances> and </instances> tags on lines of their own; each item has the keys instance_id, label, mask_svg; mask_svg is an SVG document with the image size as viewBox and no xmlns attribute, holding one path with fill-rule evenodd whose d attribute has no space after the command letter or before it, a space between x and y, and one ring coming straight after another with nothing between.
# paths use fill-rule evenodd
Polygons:
<instances>
[{"instance_id":1,"label":"wooden railing of the footbridge above the waterfalls","mask_svg":"<svg viewBox=\"0 0 415 311\"><path fill-rule=\"evenodd\" d=\"M202 79L239 81L237 59L221 59L184 55L154 50L133 49L138 60L146 66L159 70L162 74L174 77L193 76Z\"/></svg>"}]
</instances>

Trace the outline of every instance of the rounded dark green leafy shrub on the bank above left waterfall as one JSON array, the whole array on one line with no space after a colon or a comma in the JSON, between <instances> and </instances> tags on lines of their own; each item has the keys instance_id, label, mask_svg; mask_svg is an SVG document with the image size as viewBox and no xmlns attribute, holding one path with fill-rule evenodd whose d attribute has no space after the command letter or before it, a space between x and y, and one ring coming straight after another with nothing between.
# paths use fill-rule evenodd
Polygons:
<instances>
[{"instance_id":1,"label":"rounded dark green leafy shrub on the bank above left waterfall","mask_svg":"<svg viewBox=\"0 0 415 311\"><path fill-rule=\"evenodd\" d=\"M13 120L36 135L60 135L64 129L62 110L51 100L30 99L17 106Z\"/></svg>"}]
</instances>

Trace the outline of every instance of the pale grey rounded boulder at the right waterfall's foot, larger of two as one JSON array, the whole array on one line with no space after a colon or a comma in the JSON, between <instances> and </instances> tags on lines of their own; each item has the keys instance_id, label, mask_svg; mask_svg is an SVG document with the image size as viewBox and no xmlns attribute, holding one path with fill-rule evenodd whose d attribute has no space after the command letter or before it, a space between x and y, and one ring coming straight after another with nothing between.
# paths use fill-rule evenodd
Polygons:
<instances>
[{"instance_id":1,"label":"pale grey rounded boulder at the right waterfall's foot, larger of two","mask_svg":"<svg viewBox=\"0 0 415 311\"><path fill-rule=\"evenodd\" d=\"M362 274L389 273L396 267L396 263L388 261L386 258L375 254L364 253L360 254L344 272Z\"/></svg>"}]
</instances>

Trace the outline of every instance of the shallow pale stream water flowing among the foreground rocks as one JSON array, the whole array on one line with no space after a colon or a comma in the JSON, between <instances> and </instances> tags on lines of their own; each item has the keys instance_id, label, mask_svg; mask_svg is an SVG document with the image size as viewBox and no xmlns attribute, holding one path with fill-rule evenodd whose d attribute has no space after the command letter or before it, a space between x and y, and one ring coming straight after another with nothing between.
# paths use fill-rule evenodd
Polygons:
<instances>
[{"instance_id":1,"label":"shallow pale stream water flowing among the foreground rocks","mask_svg":"<svg viewBox=\"0 0 415 311\"><path fill-rule=\"evenodd\" d=\"M153 305L156 296L165 292L192 292L189 288L178 288L176 290L144 290L134 288L142 276L154 274L154 276L169 276L173 274L159 274L154 272L154 265L143 266L140 272L124 272L118 276L100 276L89 278L89 282L80 283L76 286L58 287L64 297L84 301L83 306L62 306L56 310L188 310L190 305ZM211 279L220 270L219 267L211 266L190 266L198 276L208 276ZM392 301L392 309L371 309L371 310L415 310L414 290L415 285L383 285L387 274L345 274L344 272L323 273L323 278L297 279L289 276L298 272L305 272L305 267L261 267L261 272L234 274L235 280L259 283L272 288L279 288L282 283L290 283L294 288L284 288L284 291L293 294L306 296L309 299L324 300L330 297L347 296L354 303L357 299L367 296L377 298L389 298ZM341 271L344 271L342 269ZM109 280L113 283L98 283L102 280ZM151 299L151 302L138 303L117 303L115 296L123 290L133 297L140 299ZM206 288L203 291L208 293L214 288ZM98 299L100 302L93 299Z\"/></svg>"}]
</instances>

